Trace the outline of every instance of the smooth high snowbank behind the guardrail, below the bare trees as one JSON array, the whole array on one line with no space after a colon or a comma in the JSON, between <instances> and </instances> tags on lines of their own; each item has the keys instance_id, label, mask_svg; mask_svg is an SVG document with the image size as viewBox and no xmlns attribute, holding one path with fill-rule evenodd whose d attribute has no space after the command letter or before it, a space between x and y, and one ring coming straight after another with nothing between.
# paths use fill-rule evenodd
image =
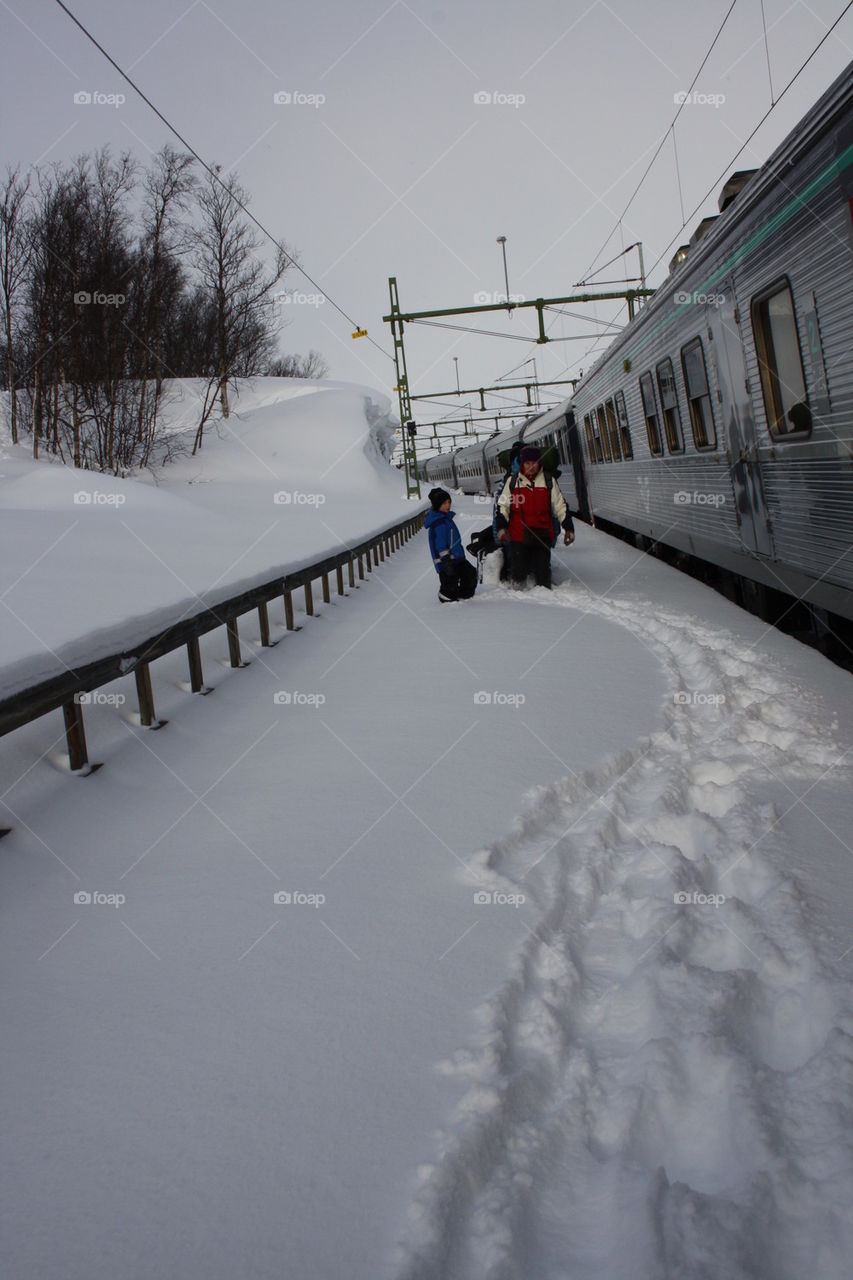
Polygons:
<instances>
[{"instance_id":1,"label":"smooth high snowbank behind the guardrail, below the bare trees","mask_svg":"<svg viewBox=\"0 0 853 1280\"><path fill-rule=\"evenodd\" d=\"M383 456L392 424L380 392L241 383L231 417L207 424L192 457L202 396L202 383L167 383L163 430L179 452L156 476L33 462L3 436L0 696L132 646L406 513Z\"/></svg>"}]
</instances>

